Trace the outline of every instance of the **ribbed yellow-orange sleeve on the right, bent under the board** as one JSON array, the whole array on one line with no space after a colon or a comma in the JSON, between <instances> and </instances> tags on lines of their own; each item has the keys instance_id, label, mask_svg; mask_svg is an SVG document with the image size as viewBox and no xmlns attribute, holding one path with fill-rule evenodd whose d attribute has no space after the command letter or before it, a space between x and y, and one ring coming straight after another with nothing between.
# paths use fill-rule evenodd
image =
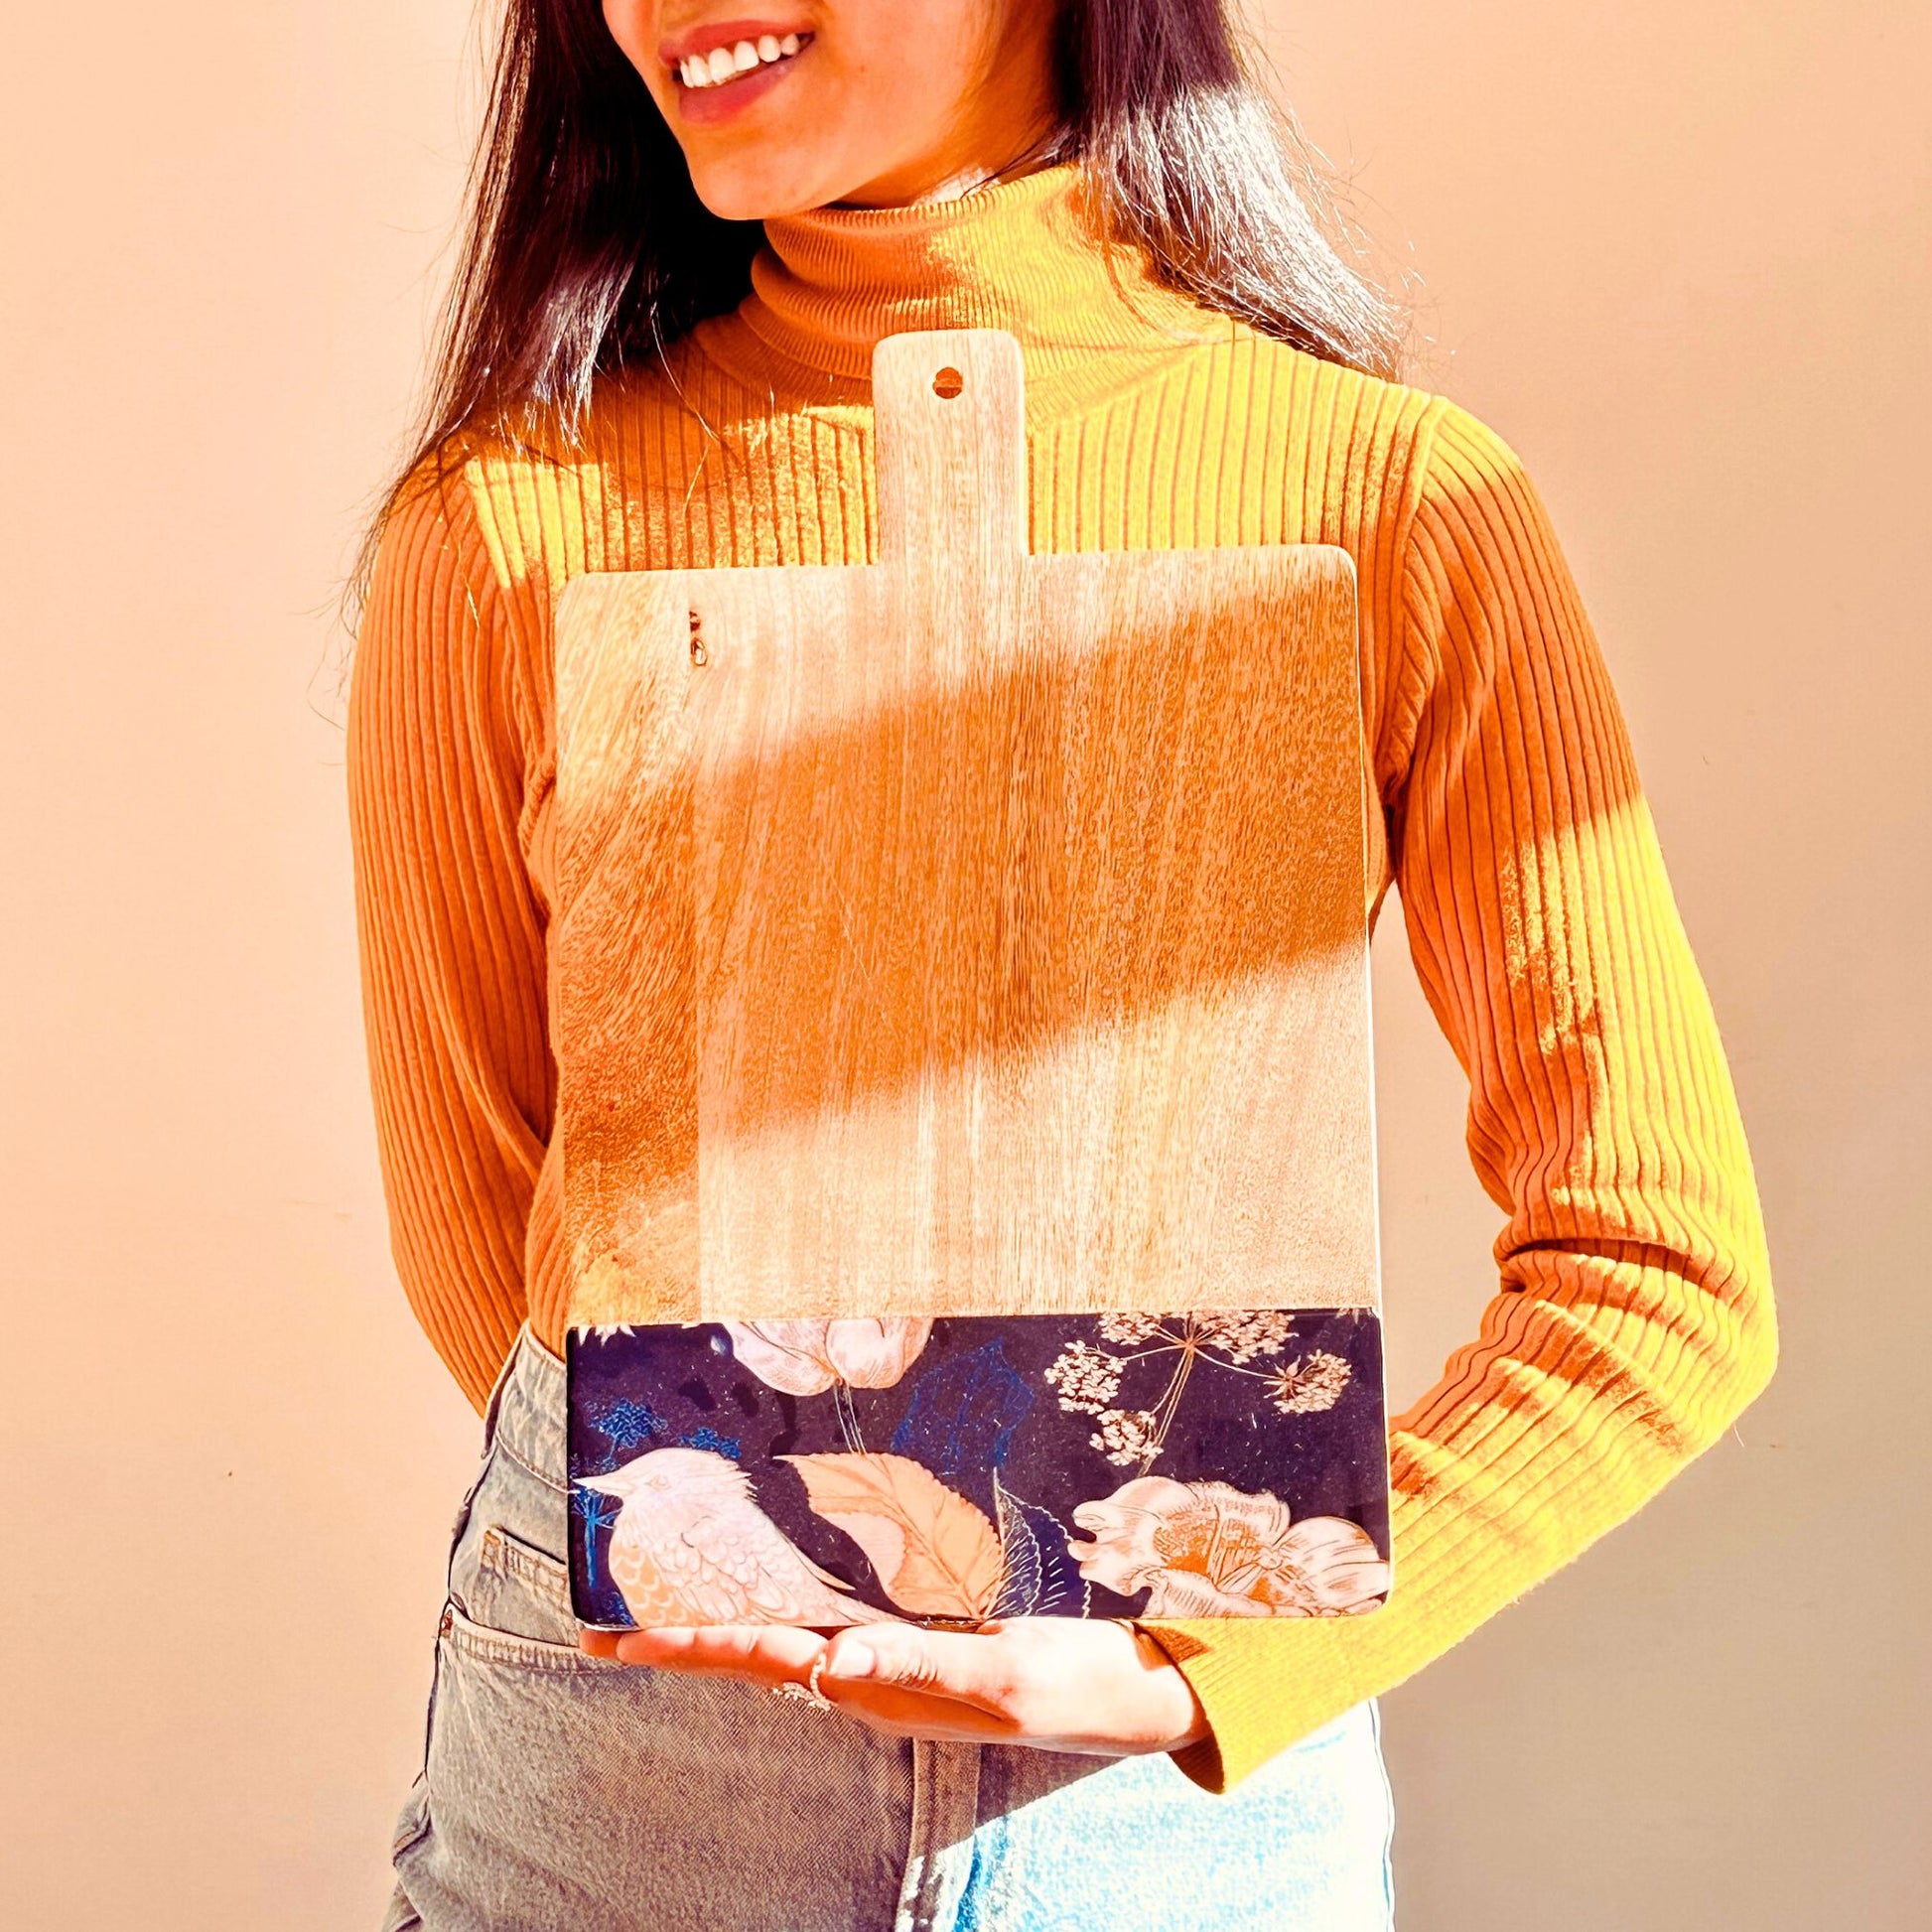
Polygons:
<instances>
[{"instance_id":1,"label":"ribbed yellow-orange sleeve on the right, bent under the board","mask_svg":"<svg viewBox=\"0 0 1932 1932\"><path fill-rule=\"evenodd\" d=\"M1777 1358L1750 1153L1596 638L1513 452L1453 404L1403 547L1395 873L1505 1211L1480 1333L1389 1432L1368 1615L1150 1625L1209 1791L1379 1694L1706 1449Z\"/></svg>"}]
</instances>

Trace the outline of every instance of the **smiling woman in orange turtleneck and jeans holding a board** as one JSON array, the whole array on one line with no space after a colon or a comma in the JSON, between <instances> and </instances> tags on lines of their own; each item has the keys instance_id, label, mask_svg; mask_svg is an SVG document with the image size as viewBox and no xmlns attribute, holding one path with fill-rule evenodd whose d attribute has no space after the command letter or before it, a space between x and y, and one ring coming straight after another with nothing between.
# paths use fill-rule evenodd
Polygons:
<instances>
[{"instance_id":1,"label":"smiling woman in orange turtleneck and jeans holding a board","mask_svg":"<svg viewBox=\"0 0 1932 1932\"><path fill-rule=\"evenodd\" d=\"M1387 1926L1376 1696L1768 1379L1750 1157L1571 576L1287 155L1217 0L510 6L350 705L394 1252L487 1410L392 1928ZM866 562L871 346L949 325L1020 338L1036 551L1352 553L1376 904L1470 1076L1499 1293L1391 1424L1376 1615L580 1638L551 597Z\"/></svg>"}]
</instances>

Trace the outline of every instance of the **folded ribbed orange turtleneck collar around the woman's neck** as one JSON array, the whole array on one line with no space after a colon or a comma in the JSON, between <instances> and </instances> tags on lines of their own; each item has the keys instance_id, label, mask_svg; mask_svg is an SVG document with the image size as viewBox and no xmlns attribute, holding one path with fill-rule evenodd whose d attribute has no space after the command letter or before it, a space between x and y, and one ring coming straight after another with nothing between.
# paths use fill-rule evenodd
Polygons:
<instances>
[{"instance_id":1,"label":"folded ribbed orange turtleneck collar around the woman's neck","mask_svg":"<svg viewBox=\"0 0 1932 1932\"><path fill-rule=\"evenodd\" d=\"M951 201L771 216L752 294L697 334L759 388L835 402L867 392L881 336L1007 328L1028 400L1045 406L1117 386L1146 357L1225 340L1231 327L1155 282L1138 245L1107 242L1080 162L1063 160Z\"/></svg>"}]
</instances>

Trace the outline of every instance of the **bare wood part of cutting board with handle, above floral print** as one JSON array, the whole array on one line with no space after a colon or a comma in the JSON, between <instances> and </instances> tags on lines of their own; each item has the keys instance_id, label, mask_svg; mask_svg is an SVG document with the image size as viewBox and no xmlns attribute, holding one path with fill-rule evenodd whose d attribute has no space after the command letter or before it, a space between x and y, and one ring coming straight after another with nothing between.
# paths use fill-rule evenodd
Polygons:
<instances>
[{"instance_id":1,"label":"bare wood part of cutting board with handle, above floral print","mask_svg":"<svg viewBox=\"0 0 1932 1932\"><path fill-rule=\"evenodd\" d=\"M1030 553L1003 330L873 402L877 562L558 599L572 1325L1379 1306L1349 554Z\"/></svg>"}]
</instances>

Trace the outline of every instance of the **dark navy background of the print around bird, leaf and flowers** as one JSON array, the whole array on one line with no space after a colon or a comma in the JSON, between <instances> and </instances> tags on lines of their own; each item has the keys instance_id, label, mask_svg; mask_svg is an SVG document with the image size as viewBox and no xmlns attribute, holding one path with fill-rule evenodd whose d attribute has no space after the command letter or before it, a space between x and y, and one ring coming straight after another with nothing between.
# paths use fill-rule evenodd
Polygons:
<instances>
[{"instance_id":1,"label":"dark navy background of the print around bird, leaf and flowers","mask_svg":"<svg viewBox=\"0 0 1932 1932\"><path fill-rule=\"evenodd\" d=\"M1182 1318L1163 1318L1175 1323ZM1387 1424L1381 1387L1381 1323L1370 1310L1294 1310L1293 1333L1277 1354L1250 1356L1244 1370L1271 1372L1314 1350L1350 1366L1333 1408L1283 1414L1265 1381L1236 1374L1213 1350L1196 1358L1180 1391L1167 1439L1148 1474L1177 1482L1229 1482L1267 1490L1302 1517L1347 1517L1389 1555ZM1109 1343L1099 1316L951 1316L931 1335L904 1378L889 1389L850 1389L866 1449L914 1455L947 1488L997 1520L993 1476L1026 1503L1049 1511L1076 1540L1078 1503L1107 1497L1140 1474L1138 1463L1109 1463L1088 1437L1095 1416L1061 1408L1045 1370L1072 1343L1132 1354L1146 1343ZM837 1453L850 1447L838 1430L835 1391L786 1395L759 1381L732 1354L717 1321L639 1325L566 1337L570 1381L570 1476L601 1476L651 1449L678 1443L730 1455L750 1476L759 1507L815 1563L852 1584L879 1609L904 1611L879 1584L866 1553L842 1530L813 1515L806 1486L779 1455ZM1138 1362L1113 1399L1151 1408L1167 1387L1175 1356ZM572 1488L570 1580L578 1619L628 1625L611 1582L605 1546L616 1505ZM1092 1617L1130 1617L1146 1592L1088 1590ZM947 1619L918 1619L943 1623Z\"/></svg>"}]
</instances>

